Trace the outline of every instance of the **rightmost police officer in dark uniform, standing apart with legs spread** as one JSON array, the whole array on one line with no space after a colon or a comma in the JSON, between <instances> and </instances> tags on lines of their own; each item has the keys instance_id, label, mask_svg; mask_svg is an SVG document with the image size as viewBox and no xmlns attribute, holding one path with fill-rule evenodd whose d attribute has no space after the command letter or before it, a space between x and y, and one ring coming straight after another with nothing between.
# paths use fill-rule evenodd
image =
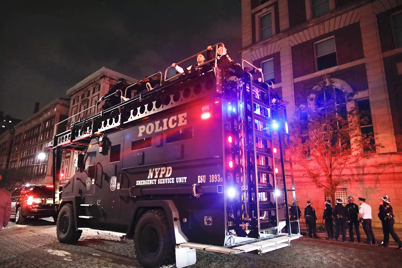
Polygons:
<instances>
[{"instance_id":1,"label":"rightmost police officer in dark uniform, standing apart with legs spread","mask_svg":"<svg viewBox=\"0 0 402 268\"><path fill-rule=\"evenodd\" d=\"M402 249L402 241L394 231L394 214L392 214L392 206L390 205L390 198L388 196L381 197L379 205L378 217L381 220L382 232L384 233L384 241L380 246L388 247L390 241L390 234L395 242L398 244L398 249Z\"/></svg>"}]
</instances>

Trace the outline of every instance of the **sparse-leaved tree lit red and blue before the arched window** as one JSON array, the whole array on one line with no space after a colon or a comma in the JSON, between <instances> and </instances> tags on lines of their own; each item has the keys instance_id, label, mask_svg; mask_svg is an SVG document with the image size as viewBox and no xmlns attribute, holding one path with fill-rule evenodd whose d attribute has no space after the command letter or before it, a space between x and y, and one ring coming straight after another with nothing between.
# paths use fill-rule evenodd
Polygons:
<instances>
[{"instance_id":1,"label":"sparse-leaved tree lit red and blue before the arched window","mask_svg":"<svg viewBox=\"0 0 402 268\"><path fill-rule=\"evenodd\" d=\"M375 143L373 133L362 134L370 111L357 111L354 93L333 86L329 76L310 89L306 102L295 109L291 124L292 154L317 188L335 203L336 189L343 172L384 147ZM319 168L316 168L318 165ZM324 177L325 179L322 179Z\"/></svg>"}]
</instances>

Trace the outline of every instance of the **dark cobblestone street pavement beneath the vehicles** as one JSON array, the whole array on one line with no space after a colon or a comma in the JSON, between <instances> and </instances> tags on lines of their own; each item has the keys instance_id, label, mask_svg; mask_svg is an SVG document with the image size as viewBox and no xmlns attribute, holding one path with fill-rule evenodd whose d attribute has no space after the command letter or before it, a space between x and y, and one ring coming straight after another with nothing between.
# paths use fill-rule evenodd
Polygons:
<instances>
[{"instance_id":1,"label":"dark cobblestone street pavement beneath the vehicles","mask_svg":"<svg viewBox=\"0 0 402 268\"><path fill-rule=\"evenodd\" d=\"M141 267L131 239L97 235L84 231L76 245L57 241L53 219L10 222L0 232L1 268ZM301 238L291 247L263 255L225 255L197 251L197 264L190 268L402 268L402 251L395 247L342 243L325 239Z\"/></svg>"}]
</instances>

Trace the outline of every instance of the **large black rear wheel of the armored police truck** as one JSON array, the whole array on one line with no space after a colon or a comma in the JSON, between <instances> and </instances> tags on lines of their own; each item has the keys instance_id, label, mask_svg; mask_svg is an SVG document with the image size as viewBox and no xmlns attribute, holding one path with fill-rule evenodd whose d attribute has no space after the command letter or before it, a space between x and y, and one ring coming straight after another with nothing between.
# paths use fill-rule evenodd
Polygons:
<instances>
[{"instance_id":1,"label":"large black rear wheel of the armored police truck","mask_svg":"<svg viewBox=\"0 0 402 268\"><path fill-rule=\"evenodd\" d=\"M134 248L138 262L145 268L174 265L174 244L163 210L150 210L141 216L134 231Z\"/></svg>"}]
</instances>

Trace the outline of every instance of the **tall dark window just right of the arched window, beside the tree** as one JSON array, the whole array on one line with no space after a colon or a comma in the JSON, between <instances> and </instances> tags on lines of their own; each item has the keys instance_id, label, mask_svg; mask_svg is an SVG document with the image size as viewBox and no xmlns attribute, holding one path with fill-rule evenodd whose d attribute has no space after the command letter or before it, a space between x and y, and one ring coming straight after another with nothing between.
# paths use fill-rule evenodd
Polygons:
<instances>
[{"instance_id":1,"label":"tall dark window just right of the arched window, beside the tree","mask_svg":"<svg viewBox=\"0 0 402 268\"><path fill-rule=\"evenodd\" d=\"M359 110L360 130L361 134L370 138L369 145L363 148L363 151L368 152L373 149L375 144L373 118L371 117L371 107L369 98L359 99L356 101L357 109Z\"/></svg>"}]
</instances>

